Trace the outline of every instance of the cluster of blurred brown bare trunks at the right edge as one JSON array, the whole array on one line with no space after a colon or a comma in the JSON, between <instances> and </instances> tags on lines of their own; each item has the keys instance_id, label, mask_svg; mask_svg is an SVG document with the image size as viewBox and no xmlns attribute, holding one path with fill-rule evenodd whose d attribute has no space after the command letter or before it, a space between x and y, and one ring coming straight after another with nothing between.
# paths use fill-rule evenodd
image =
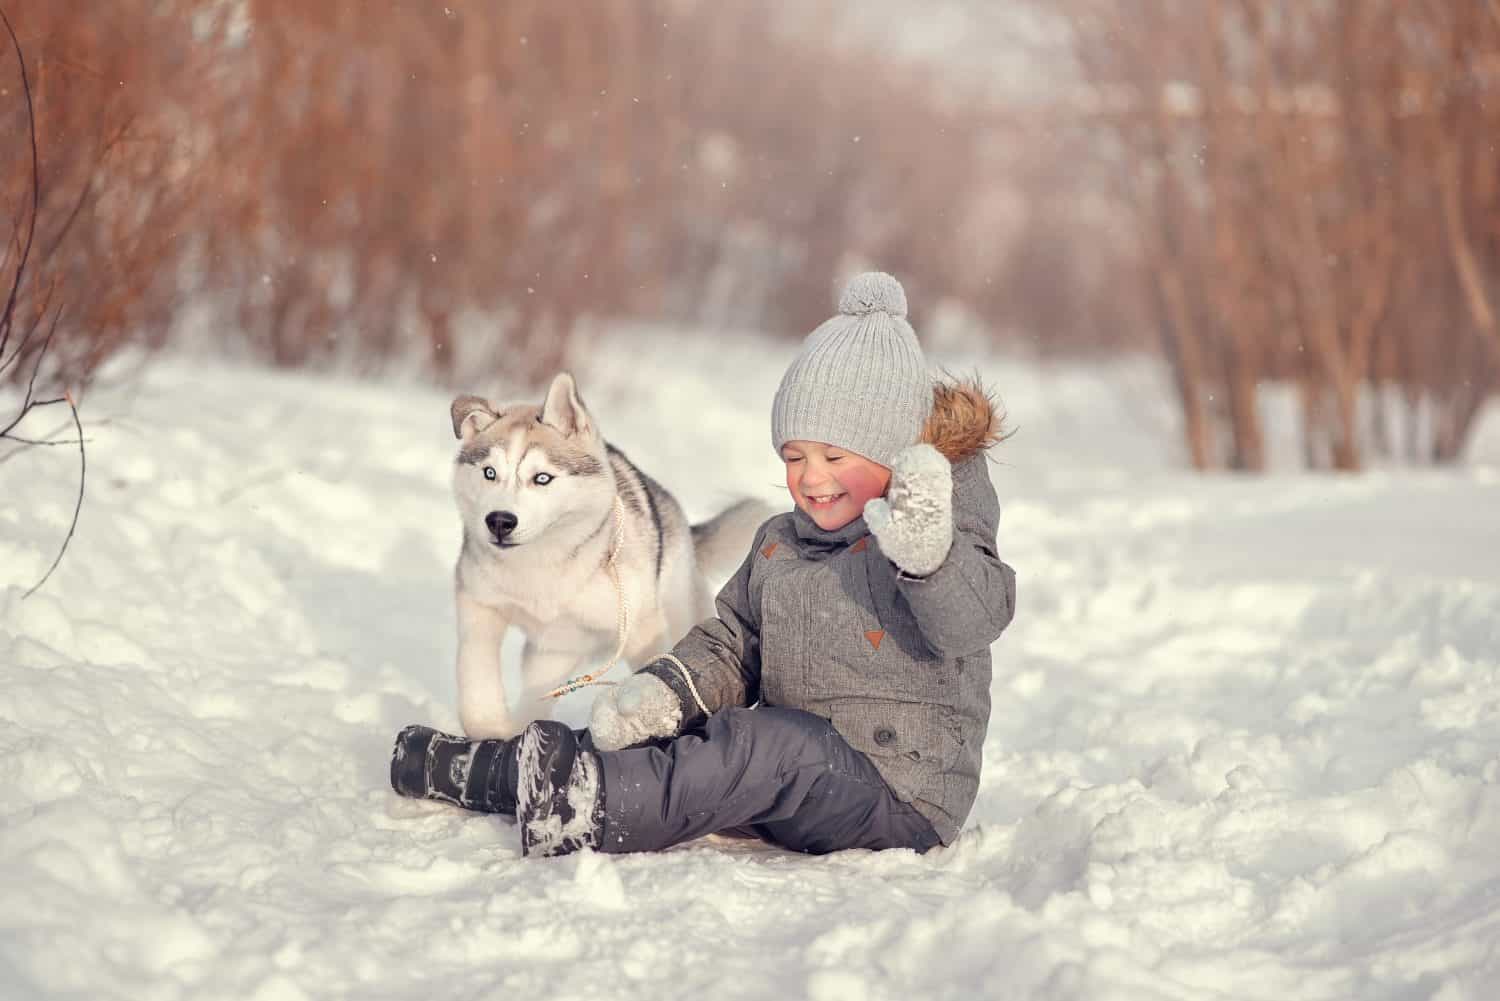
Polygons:
<instances>
[{"instance_id":1,"label":"cluster of blurred brown bare trunks at the right edge","mask_svg":"<svg viewBox=\"0 0 1500 1001\"><path fill-rule=\"evenodd\" d=\"M1500 387L1500 24L1442 0L1068 0L1083 99L1200 467L1452 461ZM1392 389L1404 413L1392 408Z\"/></svg>"}]
</instances>

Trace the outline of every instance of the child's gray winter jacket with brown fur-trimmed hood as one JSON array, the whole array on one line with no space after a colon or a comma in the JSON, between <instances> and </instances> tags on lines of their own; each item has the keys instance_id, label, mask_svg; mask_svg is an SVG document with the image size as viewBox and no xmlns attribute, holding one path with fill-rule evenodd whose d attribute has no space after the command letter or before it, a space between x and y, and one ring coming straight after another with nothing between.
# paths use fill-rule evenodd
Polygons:
<instances>
[{"instance_id":1,"label":"child's gray winter jacket with brown fur-trimmed hood","mask_svg":"<svg viewBox=\"0 0 1500 1001\"><path fill-rule=\"evenodd\" d=\"M964 398L944 408L945 392ZM936 572L903 575L862 518L824 531L801 510L777 515L718 593L717 617L672 653L710 711L759 699L830 720L948 843L980 788L990 644L1014 614L1016 572L996 554L993 408L978 387L936 393L924 438L954 462L954 543Z\"/></svg>"}]
</instances>

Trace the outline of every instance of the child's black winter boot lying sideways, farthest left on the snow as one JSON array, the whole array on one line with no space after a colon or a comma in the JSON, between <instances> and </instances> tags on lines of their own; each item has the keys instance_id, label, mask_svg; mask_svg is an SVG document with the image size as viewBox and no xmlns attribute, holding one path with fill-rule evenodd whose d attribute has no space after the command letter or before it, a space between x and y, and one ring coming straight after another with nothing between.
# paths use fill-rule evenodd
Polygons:
<instances>
[{"instance_id":1,"label":"child's black winter boot lying sideways, farthest left on the snow","mask_svg":"<svg viewBox=\"0 0 1500 1001\"><path fill-rule=\"evenodd\" d=\"M390 786L417 800L514 813L519 741L466 740L430 726L408 726L396 734L390 753Z\"/></svg>"}]
</instances>

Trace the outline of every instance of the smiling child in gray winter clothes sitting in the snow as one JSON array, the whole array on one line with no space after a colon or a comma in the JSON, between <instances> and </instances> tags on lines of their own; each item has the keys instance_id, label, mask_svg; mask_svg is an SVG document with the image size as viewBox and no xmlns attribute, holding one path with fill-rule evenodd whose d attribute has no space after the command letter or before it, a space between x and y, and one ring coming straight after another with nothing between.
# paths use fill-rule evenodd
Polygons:
<instances>
[{"instance_id":1,"label":"smiling child in gray winter clothes sitting in the snow","mask_svg":"<svg viewBox=\"0 0 1500 1001\"><path fill-rule=\"evenodd\" d=\"M984 458L999 425L980 386L930 380L900 284L855 278L772 404L796 507L758 530L717 617L606 689L586 731L408 726L392 785L514 813L524 854L714 831L806 852L951 842L1016 606Z\"/></svg>"}]
</instances>

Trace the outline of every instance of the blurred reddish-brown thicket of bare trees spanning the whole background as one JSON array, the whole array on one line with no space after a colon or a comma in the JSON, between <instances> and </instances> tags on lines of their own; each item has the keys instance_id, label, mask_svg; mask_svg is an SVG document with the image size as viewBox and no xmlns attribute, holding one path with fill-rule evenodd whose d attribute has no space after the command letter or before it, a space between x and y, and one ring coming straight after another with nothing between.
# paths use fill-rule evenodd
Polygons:
<instances>
[{"instance_id":1,"label":"blurred reddish-brown thicket of bare trees spanning the whole background","mask_svg":"<svg viewBox=\"0 0 1500 1001\"><path fill-rule=\"evenodd\" d=\"M1311 465L1461 453L1500 380L1488 0L1047 3L1082 86L1011 105L842 12L21 0L20 312L68 297L74 383L189 318L280 365L536 381L586 317L806 332L885 267L918 329L960 302L1052 351L1152 330L1198 467L1266 464L1268 383ZM3 101L8 204L20 126Z\"/></svg>"}]
</instances>

